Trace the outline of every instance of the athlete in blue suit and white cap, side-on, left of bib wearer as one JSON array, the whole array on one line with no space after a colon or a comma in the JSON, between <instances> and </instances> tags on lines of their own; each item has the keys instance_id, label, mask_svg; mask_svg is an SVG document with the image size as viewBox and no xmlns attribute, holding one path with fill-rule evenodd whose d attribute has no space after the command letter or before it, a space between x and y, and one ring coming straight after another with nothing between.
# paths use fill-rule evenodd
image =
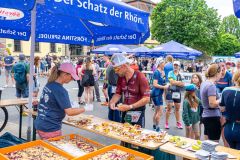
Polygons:
<instances>
[{"instance_id":1,"label":"athlete in blue suit and white cap, side-on, left of bib wearer","mask_svg":"<svg viewBox=\"0 0 240 160\"><path fill-rule=\"evenodd\" d=\"M151 91L151 98L155 106L155 112L153 115L153 129L157 132L160 131L159 122L162 115L164 89L169 87L169 85L165 85L165 74L163 71L164 64L165 63L162 58L157 59L157 69L153 73L153 89Z\"/></svg>"}]
</instances>

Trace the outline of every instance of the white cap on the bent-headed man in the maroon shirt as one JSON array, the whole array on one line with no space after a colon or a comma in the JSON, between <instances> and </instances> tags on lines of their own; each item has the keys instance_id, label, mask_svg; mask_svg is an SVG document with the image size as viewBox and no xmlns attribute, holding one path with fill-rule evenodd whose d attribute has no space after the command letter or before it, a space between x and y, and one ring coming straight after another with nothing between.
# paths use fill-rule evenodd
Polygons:
<instances>
[{"instance_id":1,"label":"white cap on the bent-headed man in the maroon shirt","mask_svg":"<svg viewBox=\"0 0 240 160\"><path fill-rule=\"evenodd\" d=\"M121 66L126 63L131 64L133 62L133 60L128 59L121 53L115 53L115 54L113 54L113 56L111 58L111 62L112 62L113 67L118 67L118 66Z\"/></svg>"}]
</instances>

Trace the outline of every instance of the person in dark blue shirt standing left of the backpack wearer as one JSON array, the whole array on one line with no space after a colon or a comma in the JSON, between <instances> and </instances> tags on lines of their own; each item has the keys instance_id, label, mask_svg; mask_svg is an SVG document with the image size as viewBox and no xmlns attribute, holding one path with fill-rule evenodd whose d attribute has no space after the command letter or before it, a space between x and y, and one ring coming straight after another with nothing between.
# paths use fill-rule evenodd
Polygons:
<instances>
[{"instance_id":1,"label":"person in dark blue shirt standing left of the backpack wearer","mask_svg":"<svg viewBox=\"0 0 240 160\"><path fill-rule=\"evenodd\" d=\"M12 76L12 67L14 64L14 58L11 56L11 53L9 53L8 56L4 57L4 66L5 66L5 76L6 76L6 85L5 87L9 86L9 77L12 79L12 86L15 87L15 82Z\"/></svg>"}]
</instances>

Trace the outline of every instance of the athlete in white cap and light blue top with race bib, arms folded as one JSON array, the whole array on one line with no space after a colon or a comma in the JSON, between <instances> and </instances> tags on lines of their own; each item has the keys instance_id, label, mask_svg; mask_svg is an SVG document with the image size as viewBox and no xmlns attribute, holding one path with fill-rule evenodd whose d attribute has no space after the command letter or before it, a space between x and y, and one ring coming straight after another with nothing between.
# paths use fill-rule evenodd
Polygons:
<instances>
[{"instance_id":1,"label":"athlete in white cap and light blue top with race bib, arms folded","mask_svg":"<svg viewBox=\"0 0 240 160\"><path fill-rule=\"evenodd\" d=\"M167 111L166 111L166 123L165 128L169 129L168 120L171 114L172 106L175 106L175 117L177 121L177 128L182 129L182 123L180 118L180 106L181 106L181 88L184 87L183 77L180 75L180 62L173 62L173 71L168 73L168 80L170 82L170 88L166 94Z\"/></svg>"}]
</instances>

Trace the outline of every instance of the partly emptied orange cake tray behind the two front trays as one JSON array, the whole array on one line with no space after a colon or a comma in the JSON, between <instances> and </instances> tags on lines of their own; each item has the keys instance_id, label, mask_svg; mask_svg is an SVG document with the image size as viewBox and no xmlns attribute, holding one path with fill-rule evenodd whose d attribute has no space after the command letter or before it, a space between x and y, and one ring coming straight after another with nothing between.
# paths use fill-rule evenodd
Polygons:
<instances>
[{"instance_id":1,"label":"partly emptied orange cake tray behind the two front trays","mask_svg":"<svg viewBox=\"0 0 240 160\"><path fill-rule=\"evenodd\" d=\"M66 136L51 138L46 142L63 150L64 152L71 154L74 157L80 157L104 147L104 145L98 142L77 134L69 134Z\"/></svg>"}]
</instances>

